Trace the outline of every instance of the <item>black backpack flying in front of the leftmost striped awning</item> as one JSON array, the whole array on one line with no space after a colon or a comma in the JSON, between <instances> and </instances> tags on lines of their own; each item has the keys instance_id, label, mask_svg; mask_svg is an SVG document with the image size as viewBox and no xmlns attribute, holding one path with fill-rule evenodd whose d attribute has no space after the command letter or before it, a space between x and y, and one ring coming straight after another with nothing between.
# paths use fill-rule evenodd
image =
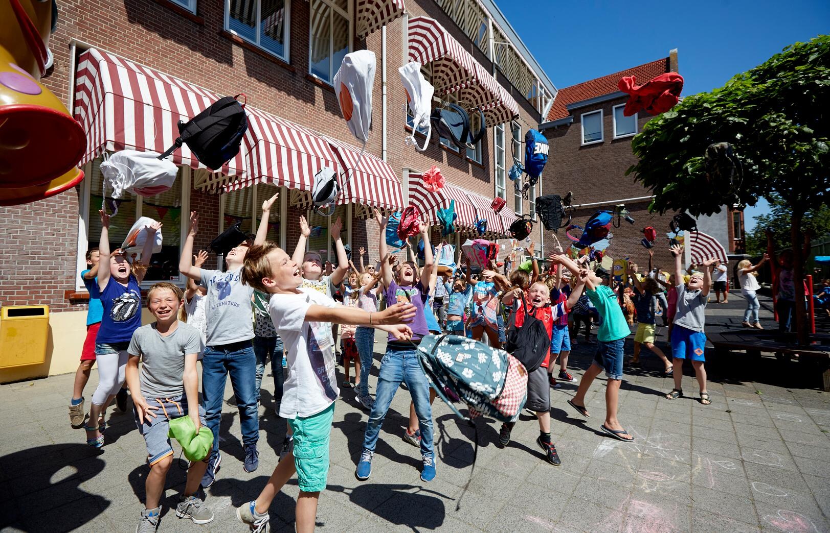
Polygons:
<instances>
[{"instance_id":1,"label":"black backpack flying in front of the leftmost striped awning","mask_svg":"<svg viewBox=\"0 0 830 533\"><path fill-rule=\"evenodd\" d=\"M179 137L159 159L187 144L204 166L212 170L222 168L239 153L239 145L248 129L245 106L237 101L240 96L244 94L217 99L188 122L179 120Z\"/></svg>"}]
</instances>

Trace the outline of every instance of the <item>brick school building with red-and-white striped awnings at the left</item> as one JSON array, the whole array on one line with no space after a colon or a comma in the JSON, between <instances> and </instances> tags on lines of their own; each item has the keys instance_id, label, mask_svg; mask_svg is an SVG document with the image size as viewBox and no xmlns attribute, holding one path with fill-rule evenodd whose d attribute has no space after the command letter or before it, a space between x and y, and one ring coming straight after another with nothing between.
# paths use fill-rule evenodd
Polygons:
<instances>
[{"instance_id":1,"label":"brick school building with red-and-white striped awnings at the left","mask_svg":"<svg viewBox=\"0 0 830 533\"><path fill-rule=\"evenodd\" d=\"M372 208L400 211L412 203L435 222L437 206L452 198L457 253L477 235L476 220L485 219L485 236L498 240L501 258L510 223L536 218L540 188L523 198L506 170L512 140L544 122L556 88L492 0L62 0L59 9L49 43L54 63L42 82L85 128L85 179L44 201L0 207L0 305L46 304L51 311L46 362L0 369L0 382L76 369L89 298L79 274L85 251L99 240L105 153L164 152L178 136L178 120L220 96L245 94L249 125L239 155L211 172L183 147L173 156L173 188L125 198L111 220L112 249L140 216L164 224L163 250L145 288L159 280L184 285L178 258L189 211L200 217L196 249L207 249L228 225L255 230L261 202L276 191L269 238L293 250L305 215L310 250L332 260L329 228L337 216L355 262L361 246L369 250L365 259L378 259ZM364 49L374 52L377 70L372 129L360 157L333 79L346 53ZM437 98L484 112L486 135L475 147L459 150L437 134L425 152L404 143L412 118L398 68L410 61L422 64ZM423 142L422 133L416 137ZM433 165L447 180L441 196L421 182ZM310 209L321 167L351 177L330 218ZM506 201L500 213L490 207L496 196ZM531 239L538 254L549 250L540 225ZM222 268L221 258L211 254L206 267Z\"/></svg>"}]
</instances>

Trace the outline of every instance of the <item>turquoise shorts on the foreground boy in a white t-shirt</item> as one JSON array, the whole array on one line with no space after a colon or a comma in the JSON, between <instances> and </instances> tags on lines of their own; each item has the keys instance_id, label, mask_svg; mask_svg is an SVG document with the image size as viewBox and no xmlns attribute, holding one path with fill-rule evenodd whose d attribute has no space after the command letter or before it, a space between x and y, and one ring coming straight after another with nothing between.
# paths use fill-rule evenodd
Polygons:
<instances>
[{"instance_id":1,"label":"turquoise shorts on the foreground boy in a white t-shirt","mask_svg":"<svg viewBox=\"0 0 830 533\"><path fill-rule=\"evenodd\" d=\"M329 477L329 441L334 404L320 413L289 420L294 433L294 466L300 491L320 492Z\"/></svg>"}]
</instances>

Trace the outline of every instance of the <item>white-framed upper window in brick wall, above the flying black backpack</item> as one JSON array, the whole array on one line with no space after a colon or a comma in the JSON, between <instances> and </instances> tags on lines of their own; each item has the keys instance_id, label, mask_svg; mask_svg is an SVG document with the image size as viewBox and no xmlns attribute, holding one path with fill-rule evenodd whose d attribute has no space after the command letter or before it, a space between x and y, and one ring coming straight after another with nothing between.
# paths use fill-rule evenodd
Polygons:
<instances>
[{"instance_id":1,"label":"white-framed upper window in brick wall, above the flying black backpack","mask_svg":"<svg viewBox=\"0 0 830 533\"><path fill-rule=\"evenodd\" d=\"M225 29L288 61L290 7L291 0L227 0Z\"/></svg>"}]
</instances>

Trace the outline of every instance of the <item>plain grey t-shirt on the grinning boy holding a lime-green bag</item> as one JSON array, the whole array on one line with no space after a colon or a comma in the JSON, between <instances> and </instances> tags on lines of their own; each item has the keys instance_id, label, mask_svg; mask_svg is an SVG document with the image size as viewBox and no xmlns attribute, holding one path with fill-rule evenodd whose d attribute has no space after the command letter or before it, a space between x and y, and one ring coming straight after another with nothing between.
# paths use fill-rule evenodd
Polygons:
<instances>
[{"instance_id":1,"label":"plain grey t-shirt on the grinning boy holding a lime-green bag","mask_svg":"<svg viewBox=\"0 0 830 533\"><path fill-rule=\"evenodd\" d=\"M127 353L141 357L141 394L148 398L183 395L184 356L202 349L202 334L184 322L178 322L175 331L166 337L159 333L156 322L139 327Z\"/></svg>"}]
</instances>

